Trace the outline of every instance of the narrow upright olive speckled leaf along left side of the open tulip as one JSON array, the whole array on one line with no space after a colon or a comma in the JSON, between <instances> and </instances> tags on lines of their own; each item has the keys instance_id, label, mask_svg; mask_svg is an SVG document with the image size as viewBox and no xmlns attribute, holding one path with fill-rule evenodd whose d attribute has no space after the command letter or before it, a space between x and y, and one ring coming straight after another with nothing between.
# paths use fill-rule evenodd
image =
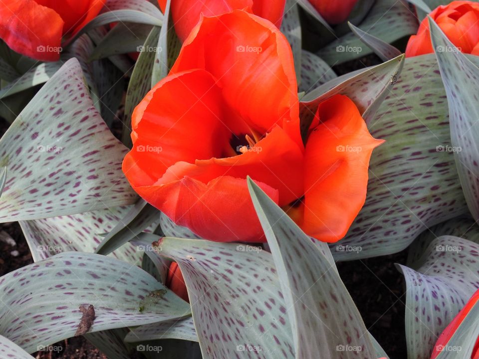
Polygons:
<instances>
[{"instance_id":1,"label":"narrow upright olive speckled leaf along left side of the open tulip","mask_svg":"<svg viewBox=\"0 0 479 359\"><path fill-rule=\"evenodd\" d=\"M153 49L158 44L160 28L154 26L145 40L142 49ZM151 89L155 51L140 51L131 75L125 100L125 117L123 120L122 142L131 147L131 115L133 110Z\"/></svg>"}]
</instances>

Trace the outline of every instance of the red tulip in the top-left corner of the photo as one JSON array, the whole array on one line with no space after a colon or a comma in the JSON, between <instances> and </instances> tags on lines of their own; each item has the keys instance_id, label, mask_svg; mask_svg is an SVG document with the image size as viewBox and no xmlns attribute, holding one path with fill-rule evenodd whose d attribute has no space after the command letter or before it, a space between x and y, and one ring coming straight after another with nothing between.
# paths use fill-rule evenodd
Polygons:
<instances>
[{"instance_id":1,"label":"red tulip in the top-left corner of the photo","mask_svg":"<svg viewBox=\"0 0 479 359\"><path fill-rule=\"evenodd\" d=\"M0 38L14 51L42 61L60 57L61 38L73 35L106 0L1 0Z\"/></svg>"}]
</instances>

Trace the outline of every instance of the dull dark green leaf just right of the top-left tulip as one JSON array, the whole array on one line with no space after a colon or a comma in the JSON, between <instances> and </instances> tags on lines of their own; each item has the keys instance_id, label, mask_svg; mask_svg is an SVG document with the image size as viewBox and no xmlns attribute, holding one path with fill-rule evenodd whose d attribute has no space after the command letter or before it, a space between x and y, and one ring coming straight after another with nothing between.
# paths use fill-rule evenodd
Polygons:
<instances>
[{"instance_id":1,"label":"dull dark green leaf just right of the top-left tulip","mask_svg":"<svg viewBox=\"0 0 479 359\"><path fill-rule=\"evenodd\" d=\"M139 52L151 31L151 25L119 22L95 47L90 60L99 60L112 55Z\"/></svg>"}]
</instances>

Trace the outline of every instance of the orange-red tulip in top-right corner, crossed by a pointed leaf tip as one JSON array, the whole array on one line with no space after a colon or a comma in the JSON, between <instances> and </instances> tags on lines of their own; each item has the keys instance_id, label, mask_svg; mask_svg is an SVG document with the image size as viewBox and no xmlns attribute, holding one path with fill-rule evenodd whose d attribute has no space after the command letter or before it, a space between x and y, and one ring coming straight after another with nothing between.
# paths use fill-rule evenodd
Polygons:
<instances>
[{"instance_id":1,"label":"orange-red tulip in top-right corner, crossed by a pointed leaf tip","mask_svg":"<svg viewBox=\"0 0 479 359\"><path fill-rule=\"evenodd\" d=\"M444 31L449 40L461 52L479 55L479 3L453 1L437 7L429 14ZM429 22L426 17L417 35L409 38L406 56L418 56L434 52Z\"/></svg>"}]
</instances>

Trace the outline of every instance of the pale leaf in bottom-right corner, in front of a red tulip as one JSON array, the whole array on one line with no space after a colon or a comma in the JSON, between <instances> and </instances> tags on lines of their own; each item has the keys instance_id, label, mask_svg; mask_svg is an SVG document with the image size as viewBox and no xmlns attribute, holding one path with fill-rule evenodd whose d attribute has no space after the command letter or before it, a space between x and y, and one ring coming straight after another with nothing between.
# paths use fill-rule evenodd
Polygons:
<instances>
[{"instance_id":1,"label":"pale leaf in bottom-right corner, in front of a red tulip","mask_svg":"<svg viewBox=\"0 0 479 359\"><path fill-rule=\"evenodd\" d=\"M479 301L476 301L468 315L452 335L451 339L445 345L436 347L437 350L442 349L436 359L457 359L458 355L460 355L461 358L476 359L478 358L477 352L474 353L474 350L477 349L475 345L478 338Z\"/></svg>"}]
</instances>

